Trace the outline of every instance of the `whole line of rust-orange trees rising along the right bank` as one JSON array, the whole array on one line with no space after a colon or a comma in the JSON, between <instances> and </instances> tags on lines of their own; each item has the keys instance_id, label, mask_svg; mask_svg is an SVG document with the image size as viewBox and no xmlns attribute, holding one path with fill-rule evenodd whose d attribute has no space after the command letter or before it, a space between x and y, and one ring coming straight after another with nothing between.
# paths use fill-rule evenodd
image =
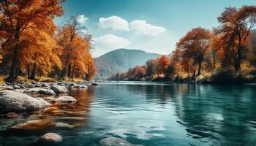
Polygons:
<instances>
[{"instance_id":1,"label":"whole line of rust-orange trees rising along the right bank","mask_svg":"<svg viewBox=\"0 0 256 146\"><path fill-rule=\"evenodd\" d=\"M219 71L241 72L256 65L256 7L226 7L217 17L219 26L197 27L179 39L167 56L144 66L113 74L109 80L196 80Z\"/></svg>"}]
</instances>

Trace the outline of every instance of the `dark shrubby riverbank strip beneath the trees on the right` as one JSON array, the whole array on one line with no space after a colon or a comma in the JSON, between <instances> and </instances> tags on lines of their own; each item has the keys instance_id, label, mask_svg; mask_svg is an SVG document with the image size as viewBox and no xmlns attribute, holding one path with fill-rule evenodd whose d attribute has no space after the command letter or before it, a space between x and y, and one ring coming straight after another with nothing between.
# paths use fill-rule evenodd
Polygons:
<instances>
[{"instance_id":1,"label":"dark shrubby riverbank strip beneath the trees on the right","mask_svg":"<svg viewBox=\"0 0 256 146\"><path fill-rule=\"evenodd\" d=\"M256 86L256 69L247 69L234 72L231 70L218 70L211 73L203 72L197 77L186 75L173 75L173 77L143 77L140 80L125 81L147 81L147 82L177 82L177 83L198 83L198 84L222 84L222 85L248 85Z\"/></svg>"}]
</instances>

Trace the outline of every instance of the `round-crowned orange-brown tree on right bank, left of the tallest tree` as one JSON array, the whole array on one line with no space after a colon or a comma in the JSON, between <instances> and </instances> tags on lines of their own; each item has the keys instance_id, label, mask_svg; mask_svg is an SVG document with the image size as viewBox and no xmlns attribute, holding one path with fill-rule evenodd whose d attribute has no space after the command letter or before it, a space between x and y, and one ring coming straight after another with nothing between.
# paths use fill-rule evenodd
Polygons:
<instances>
[{"instance_id":1,"label":"round-crowned orange-brown tree on right bank, left of the tallest tree","mask_svg":"<svg viewBox=\"0 0 256 146\"><path fill-rule=\"evenodd\" d=\"M210 46L211 32L205 28L194 28L182 37L177 47L183 50L183 59L193 60L198 66L197 75L200 75L203 59Z\"/></svg>"}]
</instances>

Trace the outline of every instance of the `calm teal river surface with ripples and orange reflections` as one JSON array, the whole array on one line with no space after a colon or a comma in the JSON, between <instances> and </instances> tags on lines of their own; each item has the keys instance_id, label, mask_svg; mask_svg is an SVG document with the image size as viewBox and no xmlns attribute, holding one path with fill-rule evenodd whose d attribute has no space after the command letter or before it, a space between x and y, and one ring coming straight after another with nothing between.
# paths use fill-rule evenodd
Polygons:
<instances>
[{"instance_id":1,"label":"calm teal river surface with ripples and orange reflections","mask_svg":"<svg viewBox=\"0 0 256 146\"><path fill-rule=\"evenodd\" d=\"M61 145L99 145L118 137L136 145L256 145L256 88L235 85L100 83L72 90L76 104L54 105L53 113L24 113L0 118L0 144L29 145L47 132ZM34 119L52 119L75 128L9 131Z\"/></svg>"}]
</instances>

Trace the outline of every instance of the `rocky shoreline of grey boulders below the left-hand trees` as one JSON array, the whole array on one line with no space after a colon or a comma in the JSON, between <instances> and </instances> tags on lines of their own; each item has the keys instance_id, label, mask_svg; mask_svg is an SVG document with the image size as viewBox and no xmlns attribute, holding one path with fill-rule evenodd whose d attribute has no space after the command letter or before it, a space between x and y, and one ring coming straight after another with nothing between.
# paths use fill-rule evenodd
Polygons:
<instances>
[{"instance_id":1,"label":"rocky shoreline of grey boulders below the left-hand trees","mask_svg":"<svg viewBox=\"0 0 256 146\"><path fill-rule=\"evenodd\" d=\"M85 82L6 82L0 84L0 113L20 113L41 110L50 107L54 102L74 102L71 96L60 96L58 99L46 101L45 96L56 96L69 93L71 88L88 88ZM39 97L34 98L37 94Z\"/></svg>"}]
</instances>

